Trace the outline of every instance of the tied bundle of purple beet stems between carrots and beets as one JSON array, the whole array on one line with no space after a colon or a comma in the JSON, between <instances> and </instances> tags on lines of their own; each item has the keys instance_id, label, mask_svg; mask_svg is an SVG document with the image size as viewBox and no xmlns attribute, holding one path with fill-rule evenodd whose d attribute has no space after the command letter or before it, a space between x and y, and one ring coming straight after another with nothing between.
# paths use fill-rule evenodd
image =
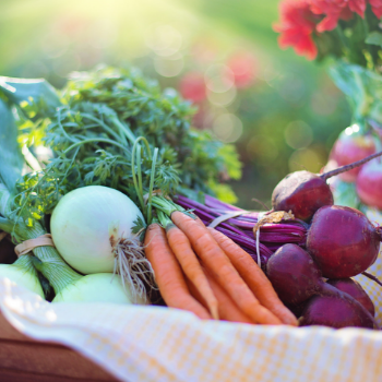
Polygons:
<instances>
[{"instance_id":1,"label":"tied bundle of purple beet stems between carrots and beets","mask_svg":"<svg viewBox=\"0 0 382 382\"><path fill-rule=\"evenodd\" d=\"M218 216L227 212L242 211L234 205L226 204L219 200L205 195L205 204L188 199L182 195L176 196L176 202L183 208L193 210L193 213L208 225ZM232 239L243 248L254 260L256 260L256 241L253 236L253 227L258 223L258 213L251 213L229 218L220 223L216 229ZM260 228L260 255L262 263L266 263L271 254L286 243L305 246L307 228L298 223L266 224Z\"/></svg>"}]
</instances>

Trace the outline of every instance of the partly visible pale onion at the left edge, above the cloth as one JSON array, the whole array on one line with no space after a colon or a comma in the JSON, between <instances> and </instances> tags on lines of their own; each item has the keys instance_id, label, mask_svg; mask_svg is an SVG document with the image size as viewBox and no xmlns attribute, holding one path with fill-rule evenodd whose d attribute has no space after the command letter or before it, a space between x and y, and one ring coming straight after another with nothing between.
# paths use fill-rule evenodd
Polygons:
<instances>
[{"instance_id":1,"label":"partly visible pale onion at the left edge, above the cloth","mask_svg":"<svg viewBox=\"0 0 382 382\"><path fill-rule=\"evenodd\" d=\"M23 255L13 264L0 264L0 277L7 277L11 282L45 298L37 272L33 265L32 255Z\"/></svg>"}]
</instances>

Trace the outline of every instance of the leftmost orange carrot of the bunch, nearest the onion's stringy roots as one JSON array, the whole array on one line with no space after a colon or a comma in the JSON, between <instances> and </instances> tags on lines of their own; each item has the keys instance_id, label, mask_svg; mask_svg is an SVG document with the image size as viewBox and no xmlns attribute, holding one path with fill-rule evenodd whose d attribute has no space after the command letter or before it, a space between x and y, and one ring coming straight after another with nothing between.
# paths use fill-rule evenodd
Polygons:
<instances>
[{"instance_id":1,"label":"leftmost orange carrot of the bunch, nearest the onion's stringy roots","mask_svg":"<svg viewBox=\"0 0 382 382\"><path fill-rule=\"evenodd\" d=\"M212 319L207 310L191 296L179 263L168 246L166 232L158 224L148 226L144 244L146 258L153 266L167 306L191 311L202 320Z\"/></svg>"}]
</instances>

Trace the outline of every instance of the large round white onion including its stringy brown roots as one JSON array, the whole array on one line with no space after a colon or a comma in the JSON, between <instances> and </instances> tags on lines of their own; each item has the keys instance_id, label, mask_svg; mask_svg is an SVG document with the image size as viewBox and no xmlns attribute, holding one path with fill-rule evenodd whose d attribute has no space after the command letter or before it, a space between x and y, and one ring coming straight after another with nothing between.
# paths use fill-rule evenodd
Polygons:
<instances>
[{"instance_id":1,"label":"large round white onion including its stringy brown roots","mask_svg":"<svg viewBox=\"0 0 382 382\"><path fill-rule=\"evenodd\" d=\"M103 186L88 186L65 194L50 220L55 246L61 256L83 274L117 273L131 298L146 295L154 286L153 270L144 255L135 223L141 211L123 193Z\"/></svg>"}]
</instances>

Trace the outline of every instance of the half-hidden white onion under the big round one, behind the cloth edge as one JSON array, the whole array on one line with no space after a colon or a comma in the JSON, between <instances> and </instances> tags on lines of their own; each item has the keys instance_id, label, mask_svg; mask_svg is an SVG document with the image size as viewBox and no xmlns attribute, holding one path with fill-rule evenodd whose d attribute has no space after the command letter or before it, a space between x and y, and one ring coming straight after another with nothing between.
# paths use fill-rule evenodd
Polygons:
<instances>
[{"instance_id":1,"label":"half-hidden white onion under the big round one, behind the cloth edge","mask_svg":"<svg viewBox=\"0 0 382 382\"><path fill-rule=\"evenodd\" d=\"M83 276L68 285L56 295L52 302L133 303L133 297L126 293L120 276L112 273L97 273ZM144 305L148 301L139 298L135 302Z\"/></svg>"}]
</instances>

